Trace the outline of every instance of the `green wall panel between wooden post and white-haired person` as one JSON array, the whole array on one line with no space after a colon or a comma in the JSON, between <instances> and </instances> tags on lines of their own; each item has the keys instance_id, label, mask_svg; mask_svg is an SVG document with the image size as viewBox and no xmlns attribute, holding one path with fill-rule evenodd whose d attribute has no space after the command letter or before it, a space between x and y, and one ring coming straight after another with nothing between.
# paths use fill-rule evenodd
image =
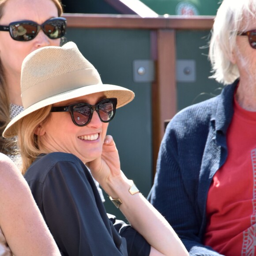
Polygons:
<instances>
[{"instance_id":1,"label":"green wall panel between wooden post and white-haired person","mask_svg":"<svg viewBox=\"0 0 256 256\"><path fill-rule=\"evenodd\" d=\"M208 60L210 31L180 30L176 33L177 60L196 61L196 81L177 82L177 109L201 102L220 93L222 86L211 76Z\"/></svg>"}]
</instances>

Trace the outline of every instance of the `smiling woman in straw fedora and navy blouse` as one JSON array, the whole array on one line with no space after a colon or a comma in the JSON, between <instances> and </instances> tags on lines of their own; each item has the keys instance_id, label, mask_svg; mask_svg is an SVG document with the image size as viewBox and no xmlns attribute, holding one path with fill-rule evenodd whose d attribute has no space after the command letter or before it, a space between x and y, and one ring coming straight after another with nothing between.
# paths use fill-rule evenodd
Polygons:
<instances>
[{"instance_id":1,"label":"smiling woman in straw fedora and navy blouse","mask_svg":"<svg viewBox=\"0 0 256 256\"><path fill-rule=\"evenodd\" d=\"M102 84L68 42L25 58L21 91L25 109L3 135L18 135L22 171L63 255L188 255L122 173L113 138L106 135L116 108L134 98L131 90ZM113 225L85 164L132 227Z\"/></svg>"}]
</instances>

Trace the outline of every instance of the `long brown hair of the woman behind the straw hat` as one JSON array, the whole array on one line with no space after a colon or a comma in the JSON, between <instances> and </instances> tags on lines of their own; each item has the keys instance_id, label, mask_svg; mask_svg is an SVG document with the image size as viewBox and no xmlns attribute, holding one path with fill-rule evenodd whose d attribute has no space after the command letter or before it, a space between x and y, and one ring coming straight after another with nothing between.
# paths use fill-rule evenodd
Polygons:
<instances>
[{"instance_id":1,"label":"long brown hair of the woman behind the straw hat","mask_svg":"<svg viewBox=\"0 0 256 256\"><path fill-rule=\"evenodd\" d=\"M0 0L0 19L4 14L4 5L8 0ZM58 16L63 14L61 0L51 0L56 5ZM13 139L5 139L2 134L7 124L10 122L10 99L7 90L3 65L0 60L0 152L10 154L14 146Z\"/></svg>"}]
</instances>

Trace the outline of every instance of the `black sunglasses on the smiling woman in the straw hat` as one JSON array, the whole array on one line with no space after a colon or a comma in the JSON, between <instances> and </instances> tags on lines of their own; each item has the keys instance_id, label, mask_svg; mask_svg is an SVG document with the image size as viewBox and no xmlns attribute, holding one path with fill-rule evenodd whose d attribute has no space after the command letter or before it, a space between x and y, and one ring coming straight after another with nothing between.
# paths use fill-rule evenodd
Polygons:
<instances>
[{"instance_id":1,"label":"black sunglasses on the smiling woman in the straw hat","mask_svg":"<svg viewBox=\"0 0 256 256\"><path fill-rule=\"evenodd\" d=\"M89 124L95 110L103 123L110 122L115 116L116 107L117 98L107 98L99 101L96 105L77 103L68 106L52 107L51 112L69 112L75 125L86 126Z\"/></svg>"}]
</instances>

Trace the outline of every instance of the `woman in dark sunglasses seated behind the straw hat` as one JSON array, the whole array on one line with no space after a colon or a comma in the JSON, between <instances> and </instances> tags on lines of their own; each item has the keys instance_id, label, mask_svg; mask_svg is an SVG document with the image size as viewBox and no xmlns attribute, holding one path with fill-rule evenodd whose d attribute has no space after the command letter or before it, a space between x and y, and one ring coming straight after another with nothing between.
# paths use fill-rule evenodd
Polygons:
<instances>
[{"instance_id":1,"label":"woman in dark sunglasses seated behind the straw hat","mask_svg":"<svg viewBox=\"0 0 256 256\"><path fill-rule=\"evenodd\" d=\"M60 0L0 0L0 152L11 158L13 140L4 139L2 132L23 110L21 64L35 49L60 45L66 31L62 13ZM43 24L40 30L37 24Z\"/></svg>"}]
</instances>

